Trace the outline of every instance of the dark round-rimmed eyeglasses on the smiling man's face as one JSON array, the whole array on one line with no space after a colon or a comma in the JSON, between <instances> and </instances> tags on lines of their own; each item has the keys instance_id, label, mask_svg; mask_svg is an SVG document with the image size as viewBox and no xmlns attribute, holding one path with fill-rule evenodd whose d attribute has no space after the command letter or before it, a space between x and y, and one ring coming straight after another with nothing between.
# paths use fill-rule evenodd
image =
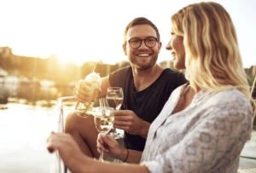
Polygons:
<instances>
[{"instance_id":1,"label":"dark round-rimmed eyeglasses on the smiling man's face","mask_svg":"<svg viewBox=\"0 0 256 173\"><path fill-rule=\"evenodd\" d=\"M128 43L130 45L131 48L139 48L141 47L142 43L144 42L144 44L148 47L148 48L153 48L157 42L157 38L156 37L146 37L145 39L141 39L138 37L134 37L131 38Z\"/></svg>"}]
</instances>

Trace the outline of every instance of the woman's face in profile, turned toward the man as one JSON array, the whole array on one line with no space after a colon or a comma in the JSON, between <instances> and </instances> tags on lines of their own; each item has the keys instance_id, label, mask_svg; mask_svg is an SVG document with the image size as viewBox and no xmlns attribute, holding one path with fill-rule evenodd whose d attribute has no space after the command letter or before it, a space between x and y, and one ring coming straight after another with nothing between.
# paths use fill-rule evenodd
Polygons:
<instances>
[{"instance_id":1,"label":"woman's face in profile, turned toward the man","mask_svg":"<svg viewBox=\"0 0 256 173\"><path fill-rule=\"evenodd\" d=\"M183 45L183 37L178 36L175 32L171 32L172 38L166 45L166 49L171 50L173 66L177 70L185 69L185 49Z\"/></svg>"}]
</instances>

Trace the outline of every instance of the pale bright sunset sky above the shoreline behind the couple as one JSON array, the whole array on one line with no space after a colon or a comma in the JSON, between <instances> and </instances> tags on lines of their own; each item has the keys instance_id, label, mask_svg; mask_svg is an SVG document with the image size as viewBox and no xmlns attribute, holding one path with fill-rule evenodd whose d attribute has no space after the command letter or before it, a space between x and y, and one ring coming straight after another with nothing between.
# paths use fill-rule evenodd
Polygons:
<instances>
[{"instance_id":1,"label":"pale bright sunset sky above the shoreline behind the couple","mask_svg":"<svg viewBox=\"0 0 256 173\"><path fill-rule=\"evenodd\" d=\"M145 16L158 26L163 47L159 61L171 60L165 49L170 39L170 17L193 0L0 0L0 46L15 55L61 61L126 60L122 38L126 24ZM256 3L218 0L235 23L243 65L256 65Z\"/></svg>"}]
</instances>

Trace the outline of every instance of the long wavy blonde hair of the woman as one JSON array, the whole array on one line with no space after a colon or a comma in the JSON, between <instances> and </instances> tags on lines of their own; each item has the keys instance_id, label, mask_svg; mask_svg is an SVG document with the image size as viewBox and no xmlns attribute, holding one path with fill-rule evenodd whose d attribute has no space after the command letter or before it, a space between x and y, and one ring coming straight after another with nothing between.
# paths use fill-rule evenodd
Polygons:
<instances>
[{"instance_id":1,"label":"long wavy blonde hair of the woman","mask_svg":"<svg viewBox=\"0 0 256 173\"><path fill-rule=\"evenodd\" d=\"M235 26L218 3L191 4L172 15L172 29L183 36L186 78L201 89L236 87L250 98Z\"/></svg>"}]
</instances>

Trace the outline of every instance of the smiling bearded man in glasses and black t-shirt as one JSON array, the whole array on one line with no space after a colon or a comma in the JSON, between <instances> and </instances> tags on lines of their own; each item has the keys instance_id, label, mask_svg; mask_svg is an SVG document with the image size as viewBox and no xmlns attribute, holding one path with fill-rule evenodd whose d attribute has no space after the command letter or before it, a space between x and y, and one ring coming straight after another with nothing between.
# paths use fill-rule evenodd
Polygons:
<instances>
[{"instance_id":1,"label":"smiling bearded man in glasses and black t-shirt","mask_svg":"<svg viewBox=\"0 0 256 173\"><path fill-rule=\"evenodd\" d=\"M123 50L131 66L124 67L102 78L102 94L110 86L124 90L122 110L116 111L114 127L125 130L125 146L143 151L149 125L158 116L167 99L179 85L185 83L183 74L164 69L156 64L160 48L160 33L150 20L139 17L125 27ZM90 84L83 80L75 86L74 95L86 101ZM67 117L66 132L78 142L88 156L98 158L98 132L93 118ZM125 159L123 160L125 161Z\"/></svg>"}]
</instances>

